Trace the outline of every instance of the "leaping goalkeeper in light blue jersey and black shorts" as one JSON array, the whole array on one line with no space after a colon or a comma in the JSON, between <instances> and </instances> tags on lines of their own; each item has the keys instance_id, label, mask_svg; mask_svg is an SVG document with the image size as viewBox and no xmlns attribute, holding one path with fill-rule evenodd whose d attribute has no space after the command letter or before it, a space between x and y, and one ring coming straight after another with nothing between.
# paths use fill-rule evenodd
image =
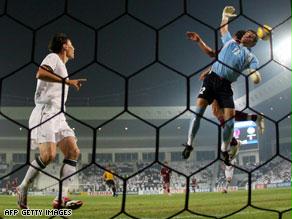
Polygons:
<instances>
[{"instance_id":1,"label":"leaping goalkeeper in light blue jersey and black shorts","mask_svg":"<svg viewBox=\"0 0 292 219\"><path fill-rule=\"evenodd\" d=\"M224 46L218 54L218 61L212 65L211 73L204 79L199 92L194 109L196 115L190 121L188 140L187 143L183 145L185 149L182 155L185 159L190 156L193 150L193 142L200 126L201 117L207 106L216 99L220 108L223 109L224 121L226 121L223 129L221 151L225 164L230 164L228 150L230 147L229 143L233 136L235 116L231 83L235 82L240 76L239 72L243 72L244 70L256 72L255 69L259 66L258 59L249 50L249 48L255 46L257 43L258 38L256 32L247 30L242 36L240 44L238 44L228 31L228 20L230 17L235 16L234 7L227 6L224 8L220 28ZM258 72L255 74L259 75ZM254 80L254 83L259 82L260 77Z\"/></svg>"}]
</instances>

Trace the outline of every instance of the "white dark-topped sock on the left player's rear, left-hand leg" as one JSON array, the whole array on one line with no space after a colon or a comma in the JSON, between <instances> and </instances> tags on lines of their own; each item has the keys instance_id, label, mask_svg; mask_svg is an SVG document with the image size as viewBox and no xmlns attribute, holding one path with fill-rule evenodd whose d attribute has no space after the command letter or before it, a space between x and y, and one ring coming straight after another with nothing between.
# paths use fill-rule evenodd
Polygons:
<instances>
[{"instance_id":1,"label":"white dark-topped sock on the left player's rear, left-hand leg","mask_svg":"<svg viewBox=\"0 0 292 219\"><path fill-rule=\"evenodd\" d=\"M41 160L40 156L36 157L36 159L32 161L31 164L39 169L44 169L46 167L44 162ZM24 179L20 184L20 187L28 188L29 184L33 182L38 173L39 173L38 169L30 166L26 172Z\"/></svg>"}]
</instances>

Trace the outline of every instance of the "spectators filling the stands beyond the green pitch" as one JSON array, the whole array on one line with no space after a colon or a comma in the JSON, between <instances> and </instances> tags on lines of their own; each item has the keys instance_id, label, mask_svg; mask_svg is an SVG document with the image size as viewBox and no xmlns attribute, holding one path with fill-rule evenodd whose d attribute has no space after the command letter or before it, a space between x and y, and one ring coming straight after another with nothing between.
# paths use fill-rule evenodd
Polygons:
<instances>
[{"instance_id":1,"label":"spectators filling the stands beyond the green pitch","mask_svg":"<svg viewBox=\"0 0 292 219\"><path fill-rule=\"evenodd\" d=\"M171 175L171 188L179 189L185 188L186 178L180 174L184 173L189 175L193 172L193 170L198 170L203 166L207 165L210 161L200 162L200 165L194 164L191 162L170 162L169 166L172 171ZM100 163L102 167L105 167L107 163ZM244 167L246 170L253 169L257 167L259 164L247 163ZM19 167L19 164L14 165L12 169L16 169ZM86 165L79 165L79 169L86 167ZM158 163L151 164L147 162L132 162L132 163L112 163L110 164L111 170L119 175L120 177L126 178L127 180L127 190L131 192L138 191L147 191L147 190L161 190L162 189L162 178L160 175L160 170L162 166ZM145 169L143 169L145 168ZM143 171L141 171L143 169ZM8 170L9 171L9 170ZM59 172L59 164L52 164L48 166L47 171L55 176L58 176ZM102 179L104 169L100 168L96 165L90 165L86 167L83 171L78 173L75 176L74 184L77 186L76 190L79 191L106 191L108 188L105 185L104 180ZM20 169L16 174L12 174L3 180L0 180L0 188L2 194L11 194L15 190L15 186L21 181L21 178L25 174L25 168ZM292 176L292 164L283 159L274 159L272 162L269 162L254 171L252 174L252 182L253 183L261 183L261 184L269 184L269 183L279 183L279 182L291 182ZM43 190L44 188L50 188L55 184L55 187L51 188L51 190L55 190L58 188L56 184L56 180L47 180L45 178L42 180L36 180L34 189ZM196 179L196 183L198 187L216 187L223 183L224 171L221 167L214 168L214 166L210 166L199 173L196 173L192 176L192 178ZM238 187L244 187L248 182L248 175L243 171L237 170L234 175L234 184ZM192 180L192 179L191 179ZM121 191L123 188L123 180L119 177L115 179L118 191ZM214 182L214 183L212 183ZM233 184L233 185L234 185Z\"/></svg>"}]
</instances>

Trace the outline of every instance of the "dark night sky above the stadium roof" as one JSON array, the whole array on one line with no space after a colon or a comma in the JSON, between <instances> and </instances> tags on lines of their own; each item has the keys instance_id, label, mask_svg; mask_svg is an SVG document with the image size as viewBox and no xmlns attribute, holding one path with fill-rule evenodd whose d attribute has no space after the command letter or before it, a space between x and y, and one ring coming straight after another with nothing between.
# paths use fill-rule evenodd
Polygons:
<instances>
[{"instance_id":1,"label":"dark night sky above the stadium roof","mask_svg":"<svg viewBox=\"0 0 292 219\"><path fill-rule=\"evenodd\" d=\"M5 30L0 33L0 76L11 72L15 75L3 81L2 105L33 105L37 65L48 53L50 37L56 32L65 32L76 47L76 58L67 65L69 72L76 74L72 77L88 78L80 92L70 93L68 105L83 106L86 102L90 106L121 106L125 80L117 74L127 77L139 72L129 80L129 105L183 106L186 80L175 71L189 76L213 61L186 39L185 32L198 32L215 49L214 34L226 5L226 1L205 0L198 4L189 0L184 11L183 0L129 0L128 5L125 0L70 0L67 8L62 0L7 2L6 13L0 17L1 30ZM228 4L240 11L239 1L228 1ZM0 1L0 13L5 12L4 8L5 1ZM250 18L276 27L273 31L275 56L277 45L289 34L290 45L287 46L291 47L291 18L284 22L289 16L289 0L242 1L242 14L229 29L231 33L256 29L258 25ZM277 26L282 22L284 24ZM269 42L260 41L253 51L261 65L270 61ZM288 60L282 63L291 69L292 59ZM27 66L21 68L24 65ZM148 68L144 69L145 66ZM271 62L260 71L266 82L286 70ZM197 79L197 76L191 79L191 103L201 86ZM17 86L19 84L21 86ZM245 94L243 78L234 83L234 92L235 99ZM291 87L283 95L289 99ZM269 114L266 104L255 107ZM288 109L291 111L291 104Z\"/></svg>"}]
</instances>

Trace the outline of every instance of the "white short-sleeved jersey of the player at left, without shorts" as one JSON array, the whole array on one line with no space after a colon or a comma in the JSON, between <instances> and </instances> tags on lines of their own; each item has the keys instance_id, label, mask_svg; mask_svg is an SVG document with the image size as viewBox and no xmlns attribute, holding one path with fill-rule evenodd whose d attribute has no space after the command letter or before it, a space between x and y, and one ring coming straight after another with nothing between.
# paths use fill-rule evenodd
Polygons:
<instances>
[{"instance_id":1,"label":"white short-sleeved jersey of the player at left, without shorts","mask_svg":"<svg viewBox=\"0 0 292 219\"><path fill-rule=\"evenodd\" d=\"M48 54L41 63L41 66L44 65L51 67L56 75L62 78L68 77L67 68L56 53ZM65 85L64 104L67 100L68 88L69 86ZM47 82L38 79L34 100L36 105L48 104L54 106L59 111L62 101L62 83Z\"/></svg>"}]
</instances>

